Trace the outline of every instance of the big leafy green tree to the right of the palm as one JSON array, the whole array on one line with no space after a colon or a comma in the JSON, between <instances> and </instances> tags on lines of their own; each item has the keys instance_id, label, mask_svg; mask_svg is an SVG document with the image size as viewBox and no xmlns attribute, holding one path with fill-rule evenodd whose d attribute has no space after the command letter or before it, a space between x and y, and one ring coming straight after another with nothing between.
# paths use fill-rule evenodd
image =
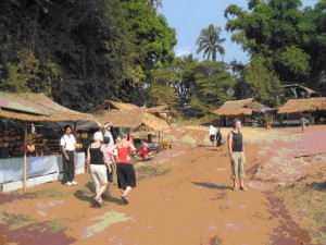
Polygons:
<instances>
[{"instance_id":1,"label":"big leafy green tree to the right of the palm","mask_svg":"<svg viewBox=\"0 0 326 245\"><path fill-rule=\"evenodd\" d=\"M301 9L300 0L251 0L250 11L235 4L225 10L226 29L251 57L271 59L280 81L317 86L325 72L325 0Z\"/></svg>"}]
</instances>

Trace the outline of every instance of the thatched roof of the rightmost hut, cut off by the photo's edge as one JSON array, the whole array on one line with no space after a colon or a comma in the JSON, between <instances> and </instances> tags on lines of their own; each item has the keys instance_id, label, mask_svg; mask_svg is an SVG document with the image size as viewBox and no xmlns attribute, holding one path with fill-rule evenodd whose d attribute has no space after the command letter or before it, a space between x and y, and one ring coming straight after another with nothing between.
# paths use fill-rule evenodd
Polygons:
<instances>
[{"instance_id":1,"label":"thatched roof of the rightmost hut, cut off by the photo's edge","mask_svg":"<svg viewBox=\"0 0 326 245\"><path fill-rule=\"evenodd\" d=\"M289 99L278 108L278 114L296 113L302 111L326 110L326 97Z\"/></svg>"}]
</instances>

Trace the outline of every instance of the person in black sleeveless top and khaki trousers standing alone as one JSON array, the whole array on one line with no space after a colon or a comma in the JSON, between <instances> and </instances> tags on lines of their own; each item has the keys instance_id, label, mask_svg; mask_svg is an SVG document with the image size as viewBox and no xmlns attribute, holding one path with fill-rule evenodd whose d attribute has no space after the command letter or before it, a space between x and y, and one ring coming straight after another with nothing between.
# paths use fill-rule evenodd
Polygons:
<instances>
[{"instance_id":1,"label":"person in black sleeveless top and khaki trousers standing alone","mask_svg":"<svg viewBox=\"0 0 326 245\"><path fill-rule=\"evenodd\" d=\"M230 156L231 162L231 179L234 191L238 191L238 179L240 180L240 189L247 191L244 187L244 166L246 166L246 157L244 157L244 145L243 138L241 134L241 121L239 119L234 120L234 128L228 134L228 152Z\"/></svg>"}]
</instances>

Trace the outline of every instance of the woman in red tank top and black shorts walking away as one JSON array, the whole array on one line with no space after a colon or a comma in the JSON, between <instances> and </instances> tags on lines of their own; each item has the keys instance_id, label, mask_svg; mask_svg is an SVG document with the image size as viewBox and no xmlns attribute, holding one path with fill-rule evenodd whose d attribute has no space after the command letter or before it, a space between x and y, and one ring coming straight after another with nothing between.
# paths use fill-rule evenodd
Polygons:
<instances>
[{"instance_id":1,"label":"woman in red tank top and black shorts walking away","mask_svg":"<svg viewBox=\"0 0 326 245\"><path fill-rule=\"evenodd\" d=\"M128 194L131 188L136 187L136 173L130 158L130 154L136 151L135 146L127 140L127 135L122 135L122 139L109 149L111 155L117 150L116 176L117 186L121 189L121 198L125 205L128 201Z\"/></svg>"}]
</instances>

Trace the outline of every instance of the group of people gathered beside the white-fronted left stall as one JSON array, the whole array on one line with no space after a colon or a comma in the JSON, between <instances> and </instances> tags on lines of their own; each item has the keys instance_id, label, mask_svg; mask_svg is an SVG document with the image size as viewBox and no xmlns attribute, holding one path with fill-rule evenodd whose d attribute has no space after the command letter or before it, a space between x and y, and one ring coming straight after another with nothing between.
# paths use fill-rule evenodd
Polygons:
<instances>
[{"instance_id":1,"label":"group of people gathered beside the white-fronted left stall","mask_svg":"<svg viewBox=\"0 0 326 245\"><path fill-rule=\"evenodd\" d=\"M110 132L112 124L104 123L104 131L93 134L93 142L87 148L86 169L90 173L96 195L95 207L103 206L103 198L110 198L110 182L113 182L113 172L116 170L117 185L121 189L123 204L127 205L128 194L136 187L136 173L130 155L136 151L135 146L127 140L127 134L121 134L114 142ZM63 183L74 185L75 176L75 144L76 139L72 126L64 127L65 135L61 138L63 156Z\"/></svg>"}]
</instances>

